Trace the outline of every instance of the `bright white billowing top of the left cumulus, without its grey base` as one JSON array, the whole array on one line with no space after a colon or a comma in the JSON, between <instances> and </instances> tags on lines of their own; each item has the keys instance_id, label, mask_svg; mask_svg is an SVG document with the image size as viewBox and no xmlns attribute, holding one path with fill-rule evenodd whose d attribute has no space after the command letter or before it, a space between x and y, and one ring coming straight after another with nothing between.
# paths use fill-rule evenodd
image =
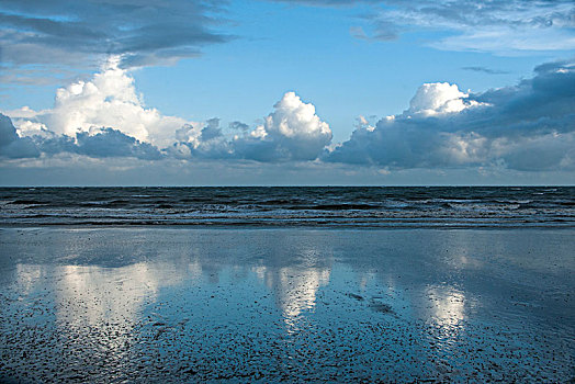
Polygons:
<instances>
[{"instance_id":1,"label":"bright white billowing top of the left cumulus, without its grey base","mask_svg":"<svg viewBox=\"0 0 575 384\"><path fill-rule=\"evenodd\" d=\"M29 108L10 111L22 135L50 131L76 136L90 129L113 127L140 142L166 146L185 120L164 116L146 108L134 87L134 78L112 57L91 80L77 81L56 92L54 109L35 112Z\"/></svg>"}]
</instances>

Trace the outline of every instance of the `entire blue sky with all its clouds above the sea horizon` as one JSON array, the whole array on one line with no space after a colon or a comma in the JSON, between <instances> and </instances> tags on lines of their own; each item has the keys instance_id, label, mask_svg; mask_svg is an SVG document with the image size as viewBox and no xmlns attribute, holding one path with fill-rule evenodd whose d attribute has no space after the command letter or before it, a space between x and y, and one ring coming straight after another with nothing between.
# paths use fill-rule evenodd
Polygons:
<instances>
[{"instance_id":1,"label":"entire blue sky with all its clouds above the sea horizon","mask_svg":"<svg viewBox=\"0 0 575 384\"><path fill-rule=\"evenodd\" d=\"M575 3L0 3L0 185L323 184L575 184Z\"/></svg>"}]
</instances>

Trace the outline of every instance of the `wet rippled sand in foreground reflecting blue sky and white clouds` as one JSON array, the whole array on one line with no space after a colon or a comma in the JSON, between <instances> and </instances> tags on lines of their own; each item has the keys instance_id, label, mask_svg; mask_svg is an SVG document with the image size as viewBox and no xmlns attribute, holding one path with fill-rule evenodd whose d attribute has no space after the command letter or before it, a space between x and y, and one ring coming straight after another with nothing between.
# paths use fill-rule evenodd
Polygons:
<instances>
[{"instance_id":1,"label":"wet rippled sand in foreground reflecting blue sky and white clouds","mask_svg":"<svg viewBox=\"0 0 575 384\"><path fill-rule=\"evenodd\" d=\"M0 229L0 381L568 382L574 235Z\"/></svg>"}]
</instances>

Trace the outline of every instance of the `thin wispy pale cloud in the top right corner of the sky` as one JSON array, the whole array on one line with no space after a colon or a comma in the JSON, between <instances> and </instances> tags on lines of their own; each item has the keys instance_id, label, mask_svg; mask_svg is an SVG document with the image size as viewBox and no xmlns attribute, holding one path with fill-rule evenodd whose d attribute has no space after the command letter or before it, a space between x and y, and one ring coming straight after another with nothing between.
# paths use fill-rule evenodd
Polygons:
<instances>
[{"instance_id":1,"label":"thin wispy pale cloud in the top right corner of the sky","mask_svg":"<svg viewBox=\"0 0 575 384\"><path fill-rule=\"evenodd\" d=\"M500 55L575 48L571 0L387 0L365 20L371 34L354 27L353 36L385 41L418 30L441 31L443 37L429 43L435 48Z\"/></svg>"}]
</instances>

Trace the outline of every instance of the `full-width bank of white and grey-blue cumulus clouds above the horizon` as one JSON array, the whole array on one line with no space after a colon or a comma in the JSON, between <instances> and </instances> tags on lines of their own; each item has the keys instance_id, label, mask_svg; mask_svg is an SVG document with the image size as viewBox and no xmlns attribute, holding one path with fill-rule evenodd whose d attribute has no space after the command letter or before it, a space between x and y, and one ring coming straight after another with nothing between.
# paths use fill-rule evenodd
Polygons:
<instances>
[{"instance_id":1,"label":"full-width bank of white and grey-blue cumulus clouds above the horizon","mask_svg":"<svg viewBox=\"0 0 575 384\"><path fill-rule=\"evenodd\" d=\"M113 61L90 81L58 90L46 111L1 116L0 156L131 157L147 161L311 162L405 169L575 169L575 63L549 63L512 87L483 93L425 83L401 114L375 124L360 117L351 137L331 146L331 129L312 103L286 92L250 127L218 118L164 116L137 97Z\"/></svg>"}]
</instances>

